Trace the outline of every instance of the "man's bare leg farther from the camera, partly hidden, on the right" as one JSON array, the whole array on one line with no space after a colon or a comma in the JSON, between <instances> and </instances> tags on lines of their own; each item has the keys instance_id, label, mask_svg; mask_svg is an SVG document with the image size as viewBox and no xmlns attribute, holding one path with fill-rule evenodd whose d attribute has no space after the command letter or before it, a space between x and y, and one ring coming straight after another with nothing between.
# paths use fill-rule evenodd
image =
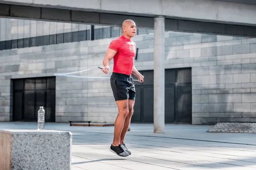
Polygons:
<instances>
[{"instance_id":1,"label":"man's bare leg farther from the camera, partly hidden, on the right","mask_svg":"<svg viewBox=\"0 0 256 170\"><path fill-rule=\"evenodd\" d=\"M134 107L134 100L132 99L129 99L128 100L128 115L126 116L125 118L125 123L124 123L124 126L122 128L122 133L121 133L121 136L120 136L120 144L124 144L124 140L125 140L125 135L126 135L126 132L130 126L130 123L131 123L131 116L133 114L133 107Z\"/></svg>"}]
</instances>

